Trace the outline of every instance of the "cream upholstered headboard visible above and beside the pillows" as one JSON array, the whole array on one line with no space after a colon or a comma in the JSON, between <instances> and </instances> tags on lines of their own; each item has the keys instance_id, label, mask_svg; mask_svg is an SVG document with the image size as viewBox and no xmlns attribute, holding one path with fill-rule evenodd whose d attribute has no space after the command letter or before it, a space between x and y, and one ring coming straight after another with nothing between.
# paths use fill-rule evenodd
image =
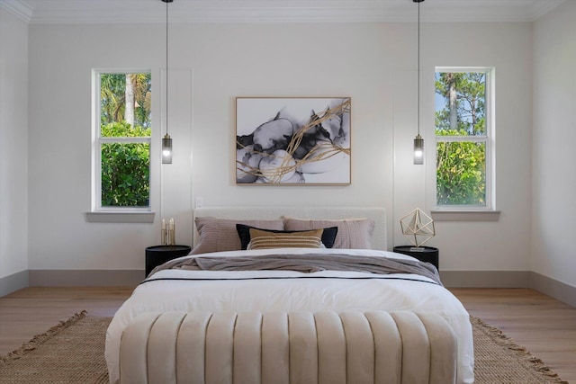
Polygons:
<instances>
[{"instance_id":1,"label":"cream upholstered headboard visible above and beside the pillows","mask_svg":"<svg viewBox=\"0 0 576 384\"><path fill-rule=\"evenodd\" d=\"M382 207L202 207L193 210L195 218L211 216L218 219L349 219L374 220L372 246L387 250L386 210ZM198 242L198 231L193 224L193 245Z\"/></svg>"}]
</instances>

